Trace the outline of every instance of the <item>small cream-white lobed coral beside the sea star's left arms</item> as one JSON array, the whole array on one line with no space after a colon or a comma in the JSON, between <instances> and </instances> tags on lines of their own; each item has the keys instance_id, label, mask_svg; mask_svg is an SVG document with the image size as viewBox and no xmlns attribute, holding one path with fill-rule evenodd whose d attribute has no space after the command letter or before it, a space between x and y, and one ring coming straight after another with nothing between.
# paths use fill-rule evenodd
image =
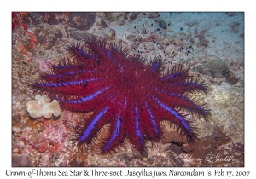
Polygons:
<instances>
[{"instance_id":1,"label":"small cream-white lobed coral beside the sea star's left arms","mask_svg":"<svg viewBox=\"0 0 256 179\"><path fill-rule=\"evenodd\" d=\"M36 95L36 100L28 101L26 103L26 110L32 118L51 118L59 117L61 115L61 107L59 101L51 100L45 95Z\"/></svg>"}]
</instances>

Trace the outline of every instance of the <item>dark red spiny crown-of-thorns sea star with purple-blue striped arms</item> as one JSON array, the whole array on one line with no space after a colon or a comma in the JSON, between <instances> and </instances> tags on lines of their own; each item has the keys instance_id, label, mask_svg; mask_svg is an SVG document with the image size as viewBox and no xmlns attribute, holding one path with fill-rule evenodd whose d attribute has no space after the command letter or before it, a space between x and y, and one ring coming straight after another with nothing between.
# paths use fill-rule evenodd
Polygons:
<instances>
[{"instance_id":1,"label":"dark red spiny crown-of-thorns sea star with purple-blue striped arms","mask_svg":"<svg viewBox=\"0 0 256 179\"><path fill-rule=\"evenodd\" d=\"M210 113L189 98L195 92L207 93L207 86L190 76L189 69L174 66L163 72L160 61L147 64L120 45L95 38L84 45L71 44L68 51L73 61L50 65L32 89L55 98L64 110L93 112L77 127L79 146L89 145L109 124L102 153L130 139L139 153L146 154L145 141L163 137L162 120L176 125L189 143L195 143L195 127L185 116L192 113L207 120Z\"/></svg>"}]
</instances>

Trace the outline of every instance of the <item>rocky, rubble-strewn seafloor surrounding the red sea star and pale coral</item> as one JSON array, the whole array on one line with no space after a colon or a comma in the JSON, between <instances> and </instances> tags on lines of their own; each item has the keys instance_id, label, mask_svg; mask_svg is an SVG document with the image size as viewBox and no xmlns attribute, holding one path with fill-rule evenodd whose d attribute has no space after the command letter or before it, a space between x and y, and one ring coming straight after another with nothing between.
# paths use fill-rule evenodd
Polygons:
<instances>
[{"instance_id":1,"label":"rocky, rubble-strewn seafloor surrounding the red sea star and pale coral","mask_svg":"<svg viewBox=\"0 0 256 179\"><path fill-rule=\"evenodd\" d=\"M243 13L13 13L12 22L13 166L244 166ZM165 139L148 141L147 157L128 141L102 155L96 145L78 150L73 127L81 116L29 118L26 103L35 99L29 82L68 56L65 44L92 36L158 57L165 69L191 66L205 80L209 93L195 99L207 103L212 117L196 122L196 147L162 123Z\"/></svg>"}]
</instances>

